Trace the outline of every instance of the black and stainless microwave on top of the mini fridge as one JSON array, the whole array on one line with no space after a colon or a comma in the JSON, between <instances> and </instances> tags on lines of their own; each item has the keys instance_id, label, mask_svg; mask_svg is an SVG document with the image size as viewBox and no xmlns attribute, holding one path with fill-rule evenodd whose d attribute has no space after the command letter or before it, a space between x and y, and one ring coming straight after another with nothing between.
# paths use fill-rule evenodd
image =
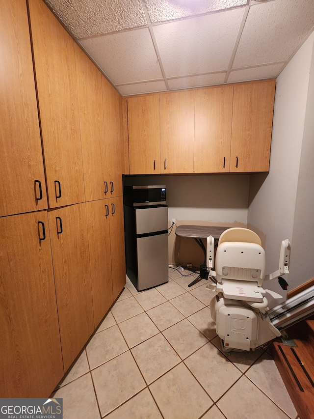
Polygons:
<instances>
[{"instance_id":1,"label":"black and stainless microwave on top of the mini fridge","mask_svg":"<svg viewBox=\"0 0 314 419\"><path fill-rule=\"evenodd\" d=\"M166 204L166 186L165 185L125 185L124 187L125 205L139 207L147 205L165 205Z\"/></svg>"}]
</instances>

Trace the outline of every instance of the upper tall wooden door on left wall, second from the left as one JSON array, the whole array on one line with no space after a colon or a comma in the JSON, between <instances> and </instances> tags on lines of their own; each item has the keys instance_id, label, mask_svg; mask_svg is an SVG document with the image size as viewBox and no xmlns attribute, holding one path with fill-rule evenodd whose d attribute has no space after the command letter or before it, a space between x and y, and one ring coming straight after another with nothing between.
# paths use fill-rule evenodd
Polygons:
<instances>
[{"instance_id":1,"label":"upper tall wooden door on left wall, second from the left","mask_svg":"<svg viewBox=\"0 0 314 419\"><path fill-rule=\"evenodd\" d=\"M42 0L29 0L30 28L50 208L83 202L74 41Z\"/></svg>"}]
</instances>

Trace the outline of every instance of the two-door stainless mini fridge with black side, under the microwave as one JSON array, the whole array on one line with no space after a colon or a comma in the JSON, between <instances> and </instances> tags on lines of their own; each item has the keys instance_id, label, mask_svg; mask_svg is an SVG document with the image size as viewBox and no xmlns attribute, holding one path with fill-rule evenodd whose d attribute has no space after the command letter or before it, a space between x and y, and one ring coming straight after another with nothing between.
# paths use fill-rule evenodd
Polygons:
<instances>
[{"instance_id":1,"label":"two-door stainless mini fridge with black side, under the microwave","mask_svg":"<svg viewBox=\"0 0 314 419\"><path fill-rule=\"evenodd\" d=\"M168 282L168 206L125 205L127 275L138 291Z\"/></svg>"}]
</instances>

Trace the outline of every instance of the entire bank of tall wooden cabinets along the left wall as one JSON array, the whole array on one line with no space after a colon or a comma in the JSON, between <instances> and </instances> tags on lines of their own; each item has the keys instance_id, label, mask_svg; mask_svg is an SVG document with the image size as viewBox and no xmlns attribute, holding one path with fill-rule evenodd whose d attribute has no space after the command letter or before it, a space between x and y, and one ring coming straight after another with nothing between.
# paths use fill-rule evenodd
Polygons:
<instances>
[{"instance_id":1,"label":"entire bank of tall wooden cabinets along the left wall","mask_svg":"<svg viewBox=\"0 0 314 419\"><path fill-rule=\"evenodd\" d=\"M0 394L48 397L126 281L122 99L43 0L0 6Z\"/></svg>"}]
</instances>

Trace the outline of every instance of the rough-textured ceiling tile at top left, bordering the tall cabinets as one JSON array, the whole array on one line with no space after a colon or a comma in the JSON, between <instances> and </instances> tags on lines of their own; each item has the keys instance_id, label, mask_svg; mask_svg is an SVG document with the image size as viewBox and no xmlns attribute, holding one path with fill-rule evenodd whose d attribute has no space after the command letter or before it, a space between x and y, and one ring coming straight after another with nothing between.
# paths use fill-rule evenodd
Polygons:
<instances>
[{"instance_id":1,"label":"rough-textured ceiling tile at top left, bordering the tall cabinets","mask_svg":"<svg viewBox=\"0 0 314 419\"><path fill-rule=\"evenodd\" d=\"M45 0L79 39L147 24L141 0Z\"/></svg>"}]
</instances>

